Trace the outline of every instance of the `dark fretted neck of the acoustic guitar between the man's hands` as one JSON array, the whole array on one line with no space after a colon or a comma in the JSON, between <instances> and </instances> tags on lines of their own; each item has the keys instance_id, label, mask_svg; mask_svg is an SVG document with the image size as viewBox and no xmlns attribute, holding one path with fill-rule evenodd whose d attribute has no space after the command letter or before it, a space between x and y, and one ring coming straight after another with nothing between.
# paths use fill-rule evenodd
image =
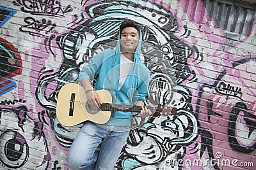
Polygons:
<instances>
[{"instance_id":1,"label":"dark fretted neck of the acoustic guitar between the man's hands","mask_svg":"<svg viewBox=\"0 0 256 170\"><path fill-rule=\"evenodd\" d=\"M131 106L131 105L124 105L124 104L109 104L109 103L102 103L100 105L100 110L102 111L125 111L125 112L140 112L141 106ZM148 108L152 113L154 113L155 108Z\"/></svg>"}]
</instances>

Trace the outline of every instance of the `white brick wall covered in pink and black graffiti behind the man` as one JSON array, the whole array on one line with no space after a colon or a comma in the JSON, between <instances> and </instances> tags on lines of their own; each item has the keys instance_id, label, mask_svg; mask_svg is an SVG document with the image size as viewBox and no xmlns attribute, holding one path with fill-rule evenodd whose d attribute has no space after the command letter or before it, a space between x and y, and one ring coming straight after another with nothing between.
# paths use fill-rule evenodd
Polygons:
<instances>
[{"instance_id":1,"label":"white brick wall covered in pink and black graffiti behind the man","mask_svg":"<svg viewBox=\"0 0 256 170\"><path fill-rule=\"evenodd\" d=\"M141 25L148 103L177 115L132 129L115 169L256 168L255 1L4 0L0 13L0 169L68 169L82 124L58 122L58 93L125 18Z\"/></svg>"}]
</instances>

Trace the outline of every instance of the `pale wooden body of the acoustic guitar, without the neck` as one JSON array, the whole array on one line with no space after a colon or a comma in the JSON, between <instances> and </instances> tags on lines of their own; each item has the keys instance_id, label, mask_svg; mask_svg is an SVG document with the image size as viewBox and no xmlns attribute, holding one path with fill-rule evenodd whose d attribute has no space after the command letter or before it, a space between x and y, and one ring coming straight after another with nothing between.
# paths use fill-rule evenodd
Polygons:
<instances>
[{"instance_id":1,"label":"pale wooden body of the acoustic guitar, without the neck","mask_svg":"<svg viewBox=\"0 0 256 170\"><path fill-rule=\"evenodd\" d=\"M97 90L102 103L112 103L112 96L108 90ZM60 124L74 126L90 120L97 124L105 124L111 117L111 111L90 110L86 93L81 85L67 83L59 94L56 104L56 117Z\"/></svg>"}]
</instances>

